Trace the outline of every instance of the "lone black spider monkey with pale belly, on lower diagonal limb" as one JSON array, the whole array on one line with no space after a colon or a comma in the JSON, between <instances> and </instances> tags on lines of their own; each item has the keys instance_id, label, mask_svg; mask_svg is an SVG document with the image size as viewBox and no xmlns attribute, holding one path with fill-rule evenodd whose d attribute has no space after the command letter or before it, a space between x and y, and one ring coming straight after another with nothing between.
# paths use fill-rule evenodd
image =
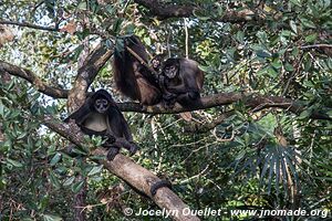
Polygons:
<instances>
[{"instance_id":1,"label":"lone black spider monkey with pale belly, on lower diagonal limb","mask_svg":"<svg viewBox=\"0 0 332 221\"><path fill-rule=\"evenodd\" d=\"M127 122L111 94L105 90L100 90L87 96L85 103L65 122L69 119L74 119L84 134L106 138L103 146L108 149L108 160L114 159L121 147L126 148L131 155L134 155L138 149L133 141Z\"/></svg>"}]
</instances>

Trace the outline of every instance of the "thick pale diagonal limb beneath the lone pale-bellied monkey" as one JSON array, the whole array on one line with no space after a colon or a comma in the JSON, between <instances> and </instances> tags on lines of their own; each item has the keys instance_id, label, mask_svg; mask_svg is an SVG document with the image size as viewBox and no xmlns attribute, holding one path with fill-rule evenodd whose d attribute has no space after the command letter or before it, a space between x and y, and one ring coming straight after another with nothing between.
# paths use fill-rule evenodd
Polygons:
<instances>
[{"instance_id":1,"label":"thick pale diagonal limb beneath the lone pale-bellied monkey","mask_svg":"<svg viewBox=\"0 0 332 221\"><path fill-rule=\"evenodd\" d=\"M42 124L49 127L51 130L58 133L59 135L65 137L71 143L81 146L83 141L83 134L80 131L79 127L70 123L56 123L52 117L46 116L42 119ZM92 151L94 156L105 156L106 150L103 148L97 148ZM137 190L144 192L146 196L151 197L151 199L160 208L166 209L167 211L177 211L172 212L170 217L174 220L178 221L198 221L199 219L195 215L184 215L183 211L186 209L189 210L188 206L185 204L177 194L175 194L168 188L158 189L157 193L152 197L149 189L151 185L159 181L160 179L148 171L147 169L141 167L135 164L131 158L125 157L118 154L114 160L98 160L100 164L104 165L104 167L110 170L112 173L116 175L118 178L125 180Z\"/></svg>"}]
</instances>

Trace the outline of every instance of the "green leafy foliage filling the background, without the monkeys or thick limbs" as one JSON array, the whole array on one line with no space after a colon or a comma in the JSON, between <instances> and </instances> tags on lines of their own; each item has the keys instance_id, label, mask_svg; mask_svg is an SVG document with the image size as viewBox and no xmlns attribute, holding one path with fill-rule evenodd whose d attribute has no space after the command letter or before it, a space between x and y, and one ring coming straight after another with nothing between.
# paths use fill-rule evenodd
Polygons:
<instances>
[{"instance_id":1,"label":"green leafy foliage filling the background, without the monkeys or thick limbs","mask_svg":"<svg viewBox=\"0 0 332 221\"><path fill-rule=\"evenodd\" d=\"M1 20L54 31L13 25L15 40L0 49L0 57L52 86L71 88L86 48L98 41L112 49L118 36L135 33L149 52L184 56L188 48L206 73L205 95L278 95L303 101L307 108L299 116L280 109L251 113L236 103L194 112L189 123L178 115L126 113L142 148L134 156L137 164L169 179L193 208L331 210L332 124L309 118L313 110L332 107L331 1L163 1L196 7L186 22L159 20L134 2L4 0ZM231 10L250 12L251 19L222 20ZM123 101L111 78L106 65L92 86L106 87ZM0 82L0 219L73 220L73 196L85 183L90 220L125 220L126 207L156 207L86 152L66 155L68 141L38 120L45 114L63 119L64 101L32 87L15 77ZM228 112L234 114L208 127ZM199 126L206 129L187 129Z\"/></svg>"}]
</instances>

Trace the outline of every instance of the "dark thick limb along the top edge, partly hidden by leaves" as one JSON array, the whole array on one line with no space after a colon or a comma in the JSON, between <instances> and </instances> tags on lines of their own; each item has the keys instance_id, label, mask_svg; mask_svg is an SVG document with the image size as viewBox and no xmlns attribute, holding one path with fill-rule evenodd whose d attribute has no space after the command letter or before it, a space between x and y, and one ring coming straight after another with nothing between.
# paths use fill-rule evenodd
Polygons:
<instances>
[{"instance_id":1,"label":"dark thick limb along the top edge, partly hidden by leaves","mask_svg":"<svg viewBox=\"0 0 332 221\"><path fill-rule=\"evenodd\" d=\"M193 17L195 10L199 11L199 8L191 4L175 4L175 3L163 3L156 0L134 0L136 3L147 8L158 19L169 18L187 18ZM258 17L250 10L243 11L227 11L221 18L214 18L215 21L220 22L247 22L257 20Z\"/></svg>"}]
</instances>

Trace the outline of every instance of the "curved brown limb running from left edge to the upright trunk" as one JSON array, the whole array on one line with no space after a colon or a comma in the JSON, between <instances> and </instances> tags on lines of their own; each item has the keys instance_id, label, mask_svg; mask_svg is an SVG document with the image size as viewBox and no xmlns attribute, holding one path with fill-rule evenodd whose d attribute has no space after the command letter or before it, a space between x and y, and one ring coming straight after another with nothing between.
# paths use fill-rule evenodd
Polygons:
<instances>
[{"instance_id":1,"label":"curved brown limb running from left edge to the upright trunk","mask_svg":"<svg viewBox=\"0 0 332 221\"><path fill-rule=\"evenodd\" d=\"M51 97L66 98L69 95L68 90L49 86L41 78L34 75L31 71L0 61L0 74L3 75L6 73L27 80L33 86L35 86L35 88L39 92L49 95Z\"/></svg>"}]
</instances>

